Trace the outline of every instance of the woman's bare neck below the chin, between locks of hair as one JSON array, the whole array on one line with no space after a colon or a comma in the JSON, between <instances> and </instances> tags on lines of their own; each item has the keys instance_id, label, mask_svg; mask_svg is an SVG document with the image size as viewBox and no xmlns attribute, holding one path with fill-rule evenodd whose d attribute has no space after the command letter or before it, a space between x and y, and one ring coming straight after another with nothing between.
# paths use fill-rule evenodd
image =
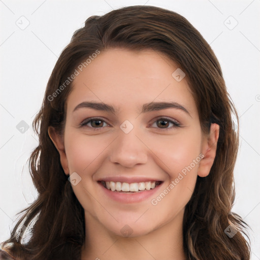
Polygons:
<instances>
[{"instance_id":1,"label":"woman's bare neck below the chin, between locks of hair","mask_svg":"<svg viewBox=\"0 0 260 260\"><path fill-rule=\"evenodd\" d=\"M86 217L87 216L87 217ZM86 239L82 260L171 259L185 260L182 234L183 211L164 226L138 237L121 237L85 212Z\"/></svg>"}]
</instances>

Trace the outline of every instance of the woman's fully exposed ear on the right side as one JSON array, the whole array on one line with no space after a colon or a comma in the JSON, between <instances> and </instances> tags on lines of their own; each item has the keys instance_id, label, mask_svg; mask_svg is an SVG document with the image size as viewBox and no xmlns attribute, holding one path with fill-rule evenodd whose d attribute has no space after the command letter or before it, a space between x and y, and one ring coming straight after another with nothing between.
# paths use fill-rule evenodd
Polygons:
<instances>
[{"instance_id":1,"label":"woman's fully exposed ear on the right side","mask_svg":"<svg viewBox=\"0 0 260 260\"><path fill-rule=\"evenodd\" d=\"M209 175L210 169L214 163L217 150L217 140L219 136L219 125L212 123L210 133L204 137L202 142L202 153L204 157L200 161L198 175L206 177Z\"/></svg>"}]
</instances>

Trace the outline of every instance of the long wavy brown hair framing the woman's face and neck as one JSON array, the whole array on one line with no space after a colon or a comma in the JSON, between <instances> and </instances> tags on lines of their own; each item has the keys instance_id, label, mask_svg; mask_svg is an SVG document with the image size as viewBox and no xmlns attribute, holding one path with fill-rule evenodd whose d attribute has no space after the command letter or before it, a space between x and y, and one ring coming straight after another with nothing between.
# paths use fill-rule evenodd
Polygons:
<instances>
[{"instance_id":1,"label":"long wavy brown hair framing the woman's face and neck","mask_svg":"<svg viewBox=\"0 0 260 260\"><path fill-rule=\"evenodd\" d=\"M87 225L84 210L63 172L48 127L54 126L62 135L66 101L72 89L71 83L64 85L68 77L97 50L115 47L136 51L152 49L175 61L186 74L203 132L209 131L211 123L220 126L210 174L197 178L185 207L183 242L187 259L249 259L246 223L231 212L239 144L232 115L237 124L238 115L226 91L219 62L199 31L184 17L153 6L131 6L103 16L91 16L62 51L33 123L39 146L30 156L30 174L39 197L22 211L23 216L3 245L20 259L80 259ZM62 91L57 91L62 84ZM29 239L21 243L19 231L32 220L35 223L29 228ZM228 236L226 229L233 235L237 233ZM7 243L11 245L8 247Z\"/></svg>"}]
</instances>

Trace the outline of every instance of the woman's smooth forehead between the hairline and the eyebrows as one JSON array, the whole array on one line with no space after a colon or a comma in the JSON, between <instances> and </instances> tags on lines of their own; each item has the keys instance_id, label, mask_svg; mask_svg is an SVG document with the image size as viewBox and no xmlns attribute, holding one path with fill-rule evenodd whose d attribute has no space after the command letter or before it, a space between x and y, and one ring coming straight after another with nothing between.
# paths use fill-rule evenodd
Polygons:
<instances>
[{"instance_id":1,"label":"woman's smooth forehead between the hairline and the eyebrows","mask_svg":"<svg viewBox=\"0 0 260 260\"><path fill-rule=\"evenodd\" d=\"M179 68L174 61L152 50L106 50L79 71L68 109L96 101L113 104L116 112L130 108L139 111L148 102L173 101L194 110L196 104L188 83L185 77L176 80L176 70Z\"/></svg>"}]
</instances>

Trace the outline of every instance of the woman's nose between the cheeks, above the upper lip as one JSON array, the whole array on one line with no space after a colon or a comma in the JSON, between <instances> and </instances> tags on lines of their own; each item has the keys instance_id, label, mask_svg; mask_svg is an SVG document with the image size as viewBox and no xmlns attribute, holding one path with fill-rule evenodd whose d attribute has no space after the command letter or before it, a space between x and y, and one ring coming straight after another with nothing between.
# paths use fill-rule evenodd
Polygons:
<instances>
[{"instance_id":1,"label":"woman's nose between the cheeks, above the upper lip","mask_svg":"<svg viewBox=\"0 0 260 260\"><path fill-rule=\"evenodd\" d=\"M128 134L119 129L110 150L110 161L126 168L132 168L138 164L145 164L148 158L148 148L142 141L140 134L134 127Z\"/></svg>"}]
</instances>

